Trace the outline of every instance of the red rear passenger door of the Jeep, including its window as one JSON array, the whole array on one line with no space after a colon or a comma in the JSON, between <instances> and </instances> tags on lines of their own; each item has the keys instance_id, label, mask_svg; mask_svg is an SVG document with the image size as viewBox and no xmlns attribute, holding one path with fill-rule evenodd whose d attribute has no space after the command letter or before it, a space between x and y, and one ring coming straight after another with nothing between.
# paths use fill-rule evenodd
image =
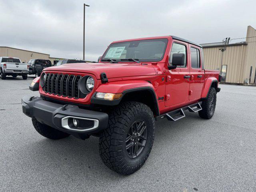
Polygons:
<instances>
[{"instance_id":1,"label":"red rear passenger door of the Jeep, including its window","mask_svg":"<svg viewBox=\"0 0 256 192\"><path fill-rule=\"evenodd\" d=\"M201 49L194 45L189 45L190 54L190 86L189 100L198 100L201 98L204 86L204 70L201 63Z\"/></svg>"}]
</instances>

